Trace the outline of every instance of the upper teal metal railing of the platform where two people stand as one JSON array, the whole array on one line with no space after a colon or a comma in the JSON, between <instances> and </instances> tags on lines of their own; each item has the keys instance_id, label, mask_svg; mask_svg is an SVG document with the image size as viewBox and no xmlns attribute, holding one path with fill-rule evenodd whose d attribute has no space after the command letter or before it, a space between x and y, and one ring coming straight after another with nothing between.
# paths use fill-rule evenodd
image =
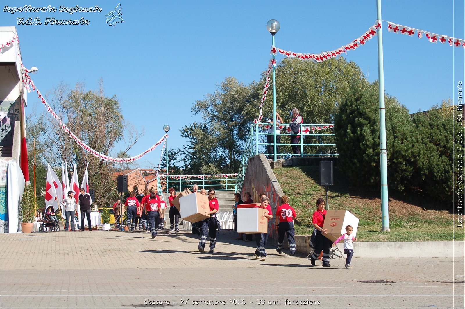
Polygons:
<instances>
[{"instance_id":1,"label":"upper teal metal railing of the platform where two people stand","mask_svg":"<svg viewBox=\"0 0 465 309\"><path fill-rule=\"evenodd\" d=\"M249 133L249 136L247 137L247 140L246 140L246 145L244 147L244 153L242 154L242 158L241 158L241 162L240 162L240 166L239 166L239 171L238 171L238 180L237 180L237 184L236 184L236 192L240 192L242 190L242 184L244 182L244 176L246 174L246 170L247 170L247 164L249 163L249 159L255 155L258 155L259 153L263 153L265 154L266 156L268 155L272 155L271 153L267 153L266 151L263 152L263 151L260 151L260 148L262 148L263 146L268 146L268 145L273 145L273 144L268 144L268 143L260 143L259 142L259 138L260 136L266 136L266 135L273 135L272 133L267 133L267 132L263 132L263 130L265 128L262 127L262 132L259 131L259 128L260 126L259 125L267 125L267 124L264 124L264 123L257 123L257 124L254 124L251 126L250 128L250 133ZM282 125L289 125L289 124L282 124ZM308 126L311 126L311 127L324 127L324 126L332 126L332 124L300 124L300 131L303 132L304 131L304 127L308 127ZM279 134L280 136L291 136L291 135L295 135L295 134L290 134L290 133L281 133ZM299 155L294 155L292 153L277 153L276 155L277 156L281 156L281 157L289 157L289 156L299 156L301 158L303 157L321 157L321 156L324 156L324 157L332 157L332 156L338 156L338 154L336 153L336 144L329 144L329 143L324 143L324 142L321 142L321 143L310 143L310 144L305 144L304 143L304 138L306 137L322 137L321 140L323 141L325 138L325 136L334 136L334 134L332 133L308 133L308 134L302 134L302 133L299 133L300 135L300 139L299 139L299 144L285 144L285 143L279 143L279 144L276 144L278 146L299 146L299 149L300 149L300 154ZM323 151L320 151L319 153L304 153L304 146L305 149L307 148L310 148L310 147L314 147L314 148L318 148L318 147L321 147L321 146L327 146L326 148L327 149L330 149L329 152L323 152ZM282 147L281 147L282 149Z\"/></svg>"}]
</instances>

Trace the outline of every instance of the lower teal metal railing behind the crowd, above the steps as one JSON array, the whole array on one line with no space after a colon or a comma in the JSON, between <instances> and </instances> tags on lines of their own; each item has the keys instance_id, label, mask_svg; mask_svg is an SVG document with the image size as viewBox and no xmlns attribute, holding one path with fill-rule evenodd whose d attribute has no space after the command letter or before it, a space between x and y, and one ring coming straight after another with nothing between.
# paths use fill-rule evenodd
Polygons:
<instances>
[{"instance_id":1,"label":"lower teal metal railing behind the crowd, above the steps","mask_svg":"<svg viewBox=\"0 0 465 309\"><path fill-rule=\"evenodd\" d=\"M167 193L169 188L174 188L176 191L182 191L186 188L192 189L194 184L201 189L215 189L215 191L235 190L237 176L234 174L227 177L219 175L158 175L157 176L157 191L159 195Z\"/></svg>"}]
</instances>

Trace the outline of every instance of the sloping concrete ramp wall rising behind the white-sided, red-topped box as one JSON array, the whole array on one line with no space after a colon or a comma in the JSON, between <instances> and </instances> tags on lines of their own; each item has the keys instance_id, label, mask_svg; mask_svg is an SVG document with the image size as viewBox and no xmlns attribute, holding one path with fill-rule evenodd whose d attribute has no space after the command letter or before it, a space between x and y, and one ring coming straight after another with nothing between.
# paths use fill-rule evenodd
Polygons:
<instances>
[{"instance_id":1,"label":"sloping concrete ramp wall rising behind the white-sided, red-topped box","mask_svg":"<svg viewBox=\"0 0 465 309\"><path fill-rule=\"evenodd\" d=\"M270 198L273 218L270 220L271 224L270 222L268 223L268 234L272 238L270 241L276 242L278 235L274 225L274 214L276 213L277 205L281 204L280 197L284 195L284 192L264 154L259 154L249 159L246 176L242 184L242 191L240 192L241 196L244 197L244 193L247 191L251 193L252 200L255 203L259 203L259 193L261 192L265 192Z\"/></svg>"}]
</instances>

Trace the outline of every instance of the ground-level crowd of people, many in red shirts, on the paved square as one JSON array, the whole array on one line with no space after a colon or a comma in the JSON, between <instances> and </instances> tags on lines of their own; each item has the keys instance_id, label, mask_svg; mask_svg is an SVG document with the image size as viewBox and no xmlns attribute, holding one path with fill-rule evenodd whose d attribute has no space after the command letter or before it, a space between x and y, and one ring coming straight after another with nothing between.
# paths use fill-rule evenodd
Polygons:
<instances>
[{"instance_id":1,"label":"ground-level crowd of people, many in red shirts, on the paved square","mask_svg":"<svg viewBox=\"0 0 465 309\"><path fill-rule=\"evenodd\" d=\"M169 213L168 217L170 220L170 231L171 232L179 232L179 219L181 214L179 209L176 208L173 204L173 200L176 198L176 193L173 188L169 189ZM199 192L200 194L206 195L207 192L205 189L201 189L199 191L199 186L194 185L192 188L192 192ZM72 191L70 191L72 193ZM85 195L83 194L85 197ZM155 188L151 188L149 191L145 191L142 195L142 199L139 201L134 193L131 193L130 196L126 199L124 205L126 206L126 225L131 228L131 231L137 230L137 223L139 222L139 230L147 230L150 231L152 234L152 238L157 236L157 231L164 230L164 217L165 217L165 208L162 208L162 204L164 204L162 198L160 198L155 191ZM83 197L83 198L84 198ZM81 198L81 195L80 195ZM239 193L234 194L235 204L233 206L233 223L234 223L234 230L237 232L237 211L238 205L242 204L253 204L253 200L251 197L250 192L244 193L244 199L242 200L241 195ZM65 199L63 203L66 205L72 204L72 194L69 195L68 199ZM270 199L266 196L266 193L259 193L259 207L266 209L263 212L262 218L266 219L268 222L268 231L272 229L271 220L274 218L274 225L276 228L276 232L278 234L278 247L276 251L279 254L282 254L283 245L284 245L284 237L287 237L289 243L289 255L294 256L296 253L296 243L295 243L295 232L294 232L294 220L296 219L297 215L289 204L289 197L283 196L280 198L280 205L277 207L276 212L273 214L271 210L271 206L269 204ZM219 203L218 199L215 195L215 190L210 189L208 191L208 203L209 203L209 218L204 220L200 220L199 222L192 224L192 233L198 234L200 236L199 240L199 252L205 252L205 246L207 242L207 236L209 240L209 253L213 253L216 240L217 240L217 231L221 230L219 220L217 219L217 212L219 210ZM115 213L118 213L118 207L121 207L120 200L116 200L113 207L115 207ZM344 250L345 254L347 255L345 267L350 268L351 266L351 259L353 255L353 242L357 240L356 237L352 237L352 226L348 225L346 227L346 233L339 237L338 240L332 242L328 238L324 237L323 234L327 234L327 230L323 229L324 220L326 216L325 210L325 200L319 198L316 202L317 209L313 212L312 215L312 225L314 228L312 238L310 241L310 246L314 249L311 255L311 264L315 265L315 262L319 258L321 252L323 266L329 267L331 266L330 261L330 247L335 246L340 240L344 240ZM68 212L68 206L66 206L66 214ZM70 212L73 211L72 207L69 210ZM82 210L81 210L82 211ZM69 216L71 217L71 216ZM83 216L81 216L82 223L83 223ZM66 215L66 224L68 224L68 215ZM138 219L139 218L139 219ZM117 218L118 220L118 218ZM81 223L81 226L82 226ZM117 221L115 222L117 224ZM67 225L66 225L67 226ZM66 229L66 227L65 227ZM257 244L256 250L253 255L262 261L266 259L266 243L268 240L268 233L254 233L254 234L242 234L238 233L238 238L236 240L244 240L244 241L252 241L252 236L255 235L255 241Z\"/></svg>"}]
</instances>

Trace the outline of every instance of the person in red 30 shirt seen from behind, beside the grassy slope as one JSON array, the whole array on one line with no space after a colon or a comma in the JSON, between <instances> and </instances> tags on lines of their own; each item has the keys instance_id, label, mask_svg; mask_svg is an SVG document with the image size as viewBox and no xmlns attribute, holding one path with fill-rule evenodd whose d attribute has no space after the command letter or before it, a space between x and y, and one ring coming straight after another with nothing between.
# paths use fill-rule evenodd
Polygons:
<instances>
[{"instance_id":1,"label":"person in red 30 shirt seen from behind, beside the grassy slope","mask_svg":"<svg viewBox=\"0 0 465 309\"><path fill-rule=\"evenodd\" d=\"M284 234L289 241L290 256L295 255L294 219L297 217L295 210L289 205L289 197L281 197L281 206L276 209L276 228L278 229L278 251L283 249Z\"/></svg>"}]
</instances>

